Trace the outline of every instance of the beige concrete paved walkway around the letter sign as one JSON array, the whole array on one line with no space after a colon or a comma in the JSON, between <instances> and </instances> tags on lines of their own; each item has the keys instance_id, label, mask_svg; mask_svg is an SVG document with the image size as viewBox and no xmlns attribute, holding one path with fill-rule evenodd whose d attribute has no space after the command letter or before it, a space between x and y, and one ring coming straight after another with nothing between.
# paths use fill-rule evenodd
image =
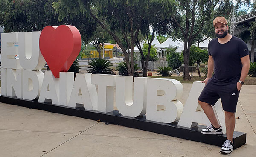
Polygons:
<instances>
[{"instance_id":1,"label":"beige concrete paved walkway around the letter sign","mask_svg":"<svg viewBox=\"0 0 256 157\"><path fill-rule=\"evenodd\" d=\"M192 84L183 84L185 104ZM255 157L256 86L242 87L236 131L247 144L227 156ZM89 119L0 103L0 157L221 157L219 147Z\"/></svg>"}]
</instances>

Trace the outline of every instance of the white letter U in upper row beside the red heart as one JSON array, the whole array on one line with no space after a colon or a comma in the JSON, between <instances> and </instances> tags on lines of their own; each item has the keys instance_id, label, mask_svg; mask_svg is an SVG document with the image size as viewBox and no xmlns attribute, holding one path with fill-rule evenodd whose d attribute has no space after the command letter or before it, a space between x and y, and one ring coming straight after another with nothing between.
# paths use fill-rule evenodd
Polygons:
<instances>
[{"instance_id":1,"label":"white letter U in upper row beside the red heart","mask_svg":"<svg viewBox=\"0 0 256 157\"><path fill-rule=\"evenodd\" d=\"M45 60L39 49L41 32L19 32L19 60L25 70L41 70Z\"/></svg>"}]
</instances>

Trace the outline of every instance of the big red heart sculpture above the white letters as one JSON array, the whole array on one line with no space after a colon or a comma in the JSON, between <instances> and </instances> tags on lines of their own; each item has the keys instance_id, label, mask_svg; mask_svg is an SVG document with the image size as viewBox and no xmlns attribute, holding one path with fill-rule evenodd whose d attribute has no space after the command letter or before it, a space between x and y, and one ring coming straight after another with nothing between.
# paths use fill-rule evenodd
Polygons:
<instances>
[{"instance_id":1,"label":"big red heart sculpture above the white letters","mask_svg":"<svg viewBox=\"0 0 256 157\"><path fill-rule=\"evenodd\" d=\"M81 35L75 26L46 26L39 38L39 47L55 78L67 72L81 50Z\"/></svg>"}]
</instances>

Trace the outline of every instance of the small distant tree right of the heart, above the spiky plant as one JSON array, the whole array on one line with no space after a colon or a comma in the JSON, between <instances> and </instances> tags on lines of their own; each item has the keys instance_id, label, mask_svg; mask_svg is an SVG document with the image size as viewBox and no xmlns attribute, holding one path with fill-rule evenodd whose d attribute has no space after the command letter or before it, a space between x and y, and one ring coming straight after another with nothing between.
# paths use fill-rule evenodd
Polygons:
<instances>
[{"instance_id":1,"label":"small distant tree right of the heart, above the spiky plant","mask_svg":"<svg viewBox=\"0 0 256 157\"><path fill-rule=\"evenodd\" d=\"M101 26L97 26L96 31L93 33L92 36L92 43L93 46L96 48L97 52L99 53L99 58L101 57L101 52L103 50L105 41L111 40L111 36L104 30L102 29Z\"/></svg>"}]
</instances>

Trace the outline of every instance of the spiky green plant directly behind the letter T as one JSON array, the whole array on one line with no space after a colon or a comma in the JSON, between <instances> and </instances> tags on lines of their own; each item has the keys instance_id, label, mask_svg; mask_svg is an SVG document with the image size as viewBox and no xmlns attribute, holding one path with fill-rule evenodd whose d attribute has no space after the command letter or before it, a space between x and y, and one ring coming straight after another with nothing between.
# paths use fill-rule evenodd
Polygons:
<instances>
[{"instance_id":1,"label":"spiky green plant directly behind the letter T","mask_svg":"<svg viewBox=\"0 0 256 157\"><path fill-rule=\"evenodd\" d=\"M113 66L113 64L107 59L95 58L90 61L88 65L90 65L89 69L87 70L89 73L114 74L110 68Z\"/></svg>"}]
</instances>

